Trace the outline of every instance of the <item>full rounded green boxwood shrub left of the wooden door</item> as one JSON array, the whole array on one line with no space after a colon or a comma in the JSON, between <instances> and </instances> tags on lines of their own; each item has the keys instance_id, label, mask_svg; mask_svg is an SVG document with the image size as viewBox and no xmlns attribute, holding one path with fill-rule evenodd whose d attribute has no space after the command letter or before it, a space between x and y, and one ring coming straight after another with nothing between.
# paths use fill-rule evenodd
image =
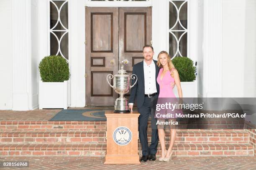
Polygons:
<instances>
[{"instance_id":1,"label":"full rounded green boxwood shrub left of the wooden door","mask_svg":"<svg viewBox=\"0 0 256 170\"><path fill-rule=\"evenodd\" d=\"M44 57L39 64L39 71L43 82L63 82L69 80L69 63L61 56Z\"/></svg>"}]
</instances>

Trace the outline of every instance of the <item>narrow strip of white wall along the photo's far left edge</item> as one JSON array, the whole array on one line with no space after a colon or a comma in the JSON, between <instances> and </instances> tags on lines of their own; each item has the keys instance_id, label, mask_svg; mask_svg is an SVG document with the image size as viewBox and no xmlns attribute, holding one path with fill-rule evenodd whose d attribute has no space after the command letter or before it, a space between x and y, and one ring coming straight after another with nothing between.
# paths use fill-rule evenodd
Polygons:
<instances>
[{"instance_id":1,"label":"narrow strip of white wall along the photo's far left edge","mask_svg":"<svg viewBox=\"0 0 256 170\"><path fill-rule=\"evenodd\" d=\"M12 1L0 1L0 110L13 107Z\"/></svg>"}]
</instances>

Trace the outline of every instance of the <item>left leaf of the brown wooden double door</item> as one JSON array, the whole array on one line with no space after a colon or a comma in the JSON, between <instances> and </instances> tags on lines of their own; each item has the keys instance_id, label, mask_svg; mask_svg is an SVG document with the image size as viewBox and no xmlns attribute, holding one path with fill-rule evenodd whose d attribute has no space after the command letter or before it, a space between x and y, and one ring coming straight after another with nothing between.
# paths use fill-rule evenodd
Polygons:
<instances>
[{"instance_id":1,"label":"left leaf of the brown wooden double door","mask_svg":"<svg viewBox=\"0 0 256 170\"><path fill-rule=\"evenodd\" d=\"M114 105L106 77L118 71L118 8L86 7L85 20L86 105Z\"/></svg>"}]
</instances>

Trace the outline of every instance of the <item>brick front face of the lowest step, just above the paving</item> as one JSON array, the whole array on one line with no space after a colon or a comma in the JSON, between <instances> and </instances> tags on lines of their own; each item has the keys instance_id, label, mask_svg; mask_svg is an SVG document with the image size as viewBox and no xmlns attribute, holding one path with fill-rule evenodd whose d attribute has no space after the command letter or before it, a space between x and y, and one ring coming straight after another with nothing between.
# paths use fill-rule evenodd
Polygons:
<instances>
[{"instance_id":1,"label":"brick front face of the lowest step, just above the paving","mask_svg":"<svg viewBox=\"0 0 256 170\"><path fill-rule=\"evenodd\" d=\"M88 156L88 157L103 157L105 156L105 148L103 149L102 146L92 146L90 148L91 150L84 150L77 148L79 146L76 146L75 148L71 150L0 150L0 156ZM179 146L178 146L179 147ZM72 148L72 147L70 147ZM251 146L247 146L248 149L243 149L243 148L233 148L232 150L223 150L223 149L217 149L215 150L193 150L192 149L186 149L182 150L180 148L177 148L175 150L175 145L174 145L174 153L173 156L177 157L186 157L186 156L254 156L254 150ZM101 150L100 150L101 149ZM157 148L158 152L156 153L156 156L159 157L161 155L161 150L160 147ZM141 150L138 150L138 154L141 156Z\"/></svg>"}]
</instances>

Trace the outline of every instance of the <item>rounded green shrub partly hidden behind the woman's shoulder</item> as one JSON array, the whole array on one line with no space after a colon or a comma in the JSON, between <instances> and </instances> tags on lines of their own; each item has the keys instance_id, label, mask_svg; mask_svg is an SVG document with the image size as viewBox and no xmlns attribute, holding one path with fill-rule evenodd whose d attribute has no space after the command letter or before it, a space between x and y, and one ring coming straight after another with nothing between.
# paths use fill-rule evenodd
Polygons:
<instances>
[{"instance_id":1,"label":"rounded green shrub partly hidden behind the woman's shoulder","mask_svg":"<svg viewBox=\"0 0 256 170\"><path fill-rule=\"evenodd\" d=\"M179 79L181 82L192 82L195 80L196 67L193 65L191 59L188 57L174 57L172 63L179 72Z\"/></svg>"}]
</instances>

